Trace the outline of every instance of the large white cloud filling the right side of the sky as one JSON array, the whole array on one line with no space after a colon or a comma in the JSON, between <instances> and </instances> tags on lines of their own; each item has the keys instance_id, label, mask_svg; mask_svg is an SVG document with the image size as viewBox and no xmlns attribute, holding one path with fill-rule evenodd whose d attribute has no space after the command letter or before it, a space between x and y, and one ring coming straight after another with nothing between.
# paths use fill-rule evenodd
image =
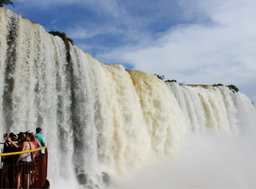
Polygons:
<instances>
[{"instance_id":1,"label":"large white cloud filling the right side of the sky","mask_svg":"<svg viewBox=\"0 0 256 189\"><path fill-rule=\"evenodd\" d=\"M186 12L195 1L182 2ZM199 9L209 23L178 25L151 45L122 47L104 56L180 82L255 85L255 8L255 1L199 1L187 14Z\"/></svg>"}]
</instances>

